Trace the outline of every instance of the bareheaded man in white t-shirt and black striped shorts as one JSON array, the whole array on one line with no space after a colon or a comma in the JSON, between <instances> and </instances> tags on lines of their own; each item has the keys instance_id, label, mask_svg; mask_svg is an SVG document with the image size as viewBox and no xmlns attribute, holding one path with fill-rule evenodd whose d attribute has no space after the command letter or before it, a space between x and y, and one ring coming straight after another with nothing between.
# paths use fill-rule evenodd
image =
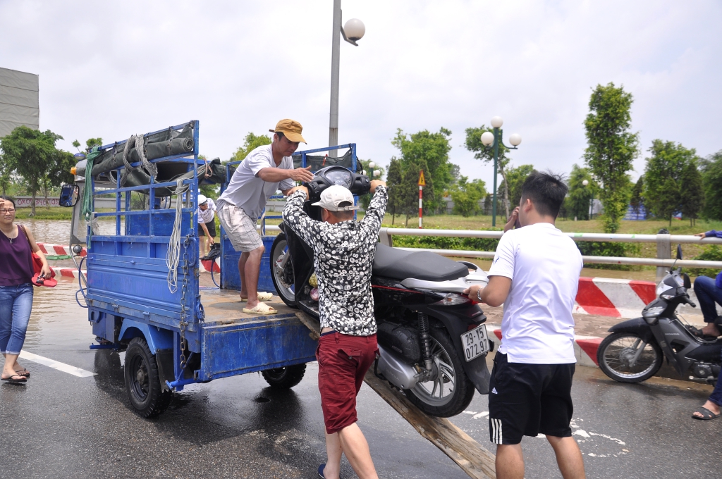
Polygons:
<instances>
[{"instance_id":1,"label":"bareheaded man in white t-shirt and black striped shorts","mask_svg":"<svg viewBox=\"0 0 722 479\"><path fill-rule=\"evenodd\" d=\"M469 297L504 304L502 343L489 384L490 440L497 444L497 478L523 478L522 436L545 434L562 476L584 478L584 462L569 427L574 374L574 318L581 254L554 226L567 186L535 172L519 202L522 228L499 241L489 284Z\"/></svg>"}]
</instances>

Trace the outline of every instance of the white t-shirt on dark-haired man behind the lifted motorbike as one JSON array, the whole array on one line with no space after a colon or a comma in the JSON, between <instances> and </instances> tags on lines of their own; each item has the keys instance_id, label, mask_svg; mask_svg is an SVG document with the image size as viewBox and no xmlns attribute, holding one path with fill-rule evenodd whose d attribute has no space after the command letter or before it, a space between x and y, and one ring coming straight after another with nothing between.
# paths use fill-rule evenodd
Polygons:
<instances>
[{"instance_id":1,"label":"white t-shirt on dark-haired man behind the lifted motorbike","mask_svg":"<svg viewBox=\"0 0 722 479\"><path fill-rule=\"evenodd\" d=\"M572 309L582 255L550 223L512 229L499 241L489 276L510 278L499 352L510 363L575 363Z\"/></svg>"}]
</instances>

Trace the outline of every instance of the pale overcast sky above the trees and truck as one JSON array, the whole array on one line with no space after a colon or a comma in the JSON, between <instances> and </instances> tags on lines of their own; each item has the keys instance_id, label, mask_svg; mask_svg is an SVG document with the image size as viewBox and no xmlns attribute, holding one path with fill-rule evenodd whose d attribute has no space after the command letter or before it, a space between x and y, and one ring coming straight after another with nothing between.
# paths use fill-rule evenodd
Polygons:
<instances>
[{"instance_id":1,"label":"pale overcast sky above the trees and truck","mask_svg":"<svg viewBox=\"0 0 722 479\"><path fill-rule=\"evenodd\" d=\"M59 146L200 120L228 159L249 131L303 124L328 144L331 0L0 0L0 66L40 75L40 129ZM512 164L569 172L596 84L624 85L644 169L653 139L722 149L722 2L344 0L339 141L388 164L396 128L453 132L451 161L490 185L464 129L504 119ZM303 146L303 145L302 145ZM488 186L487 186L488 188Z\"/></svg>"}]
</instances>

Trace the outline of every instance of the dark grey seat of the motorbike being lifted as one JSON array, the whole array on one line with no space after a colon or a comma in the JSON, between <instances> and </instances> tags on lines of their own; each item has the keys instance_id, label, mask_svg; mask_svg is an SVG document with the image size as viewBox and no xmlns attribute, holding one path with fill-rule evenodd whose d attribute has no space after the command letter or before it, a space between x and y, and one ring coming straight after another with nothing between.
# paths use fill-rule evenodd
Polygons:
<instances>
[{"instance_id":1,"label":"dark grey seat of the motorbike being lifted","mask_svg":"<svg viewBox=\"0 0 722 479\"><path fill-rule=\"evenodd\" d=\"M378 243L371 272L392 279L451 281L469 274L466 265L429 251L406 251Z\"/></svg>"}]
</instances>

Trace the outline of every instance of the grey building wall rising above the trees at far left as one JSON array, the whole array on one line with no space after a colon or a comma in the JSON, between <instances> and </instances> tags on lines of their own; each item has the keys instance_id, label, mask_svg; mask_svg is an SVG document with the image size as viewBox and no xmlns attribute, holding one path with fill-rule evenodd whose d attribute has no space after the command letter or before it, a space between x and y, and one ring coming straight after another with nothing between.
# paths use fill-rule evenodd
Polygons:
<instances>
[{"instance_id":1,"label":"grey building wall rising above the trees at far left","mask_svg":"<svg viewBox=\"0 0 722 479\"><path fill-rule=\"evenodd\" d=\"M0 138L18 126L40 129L38 75L0 68Z\"/></svg>"}]
</instances>

